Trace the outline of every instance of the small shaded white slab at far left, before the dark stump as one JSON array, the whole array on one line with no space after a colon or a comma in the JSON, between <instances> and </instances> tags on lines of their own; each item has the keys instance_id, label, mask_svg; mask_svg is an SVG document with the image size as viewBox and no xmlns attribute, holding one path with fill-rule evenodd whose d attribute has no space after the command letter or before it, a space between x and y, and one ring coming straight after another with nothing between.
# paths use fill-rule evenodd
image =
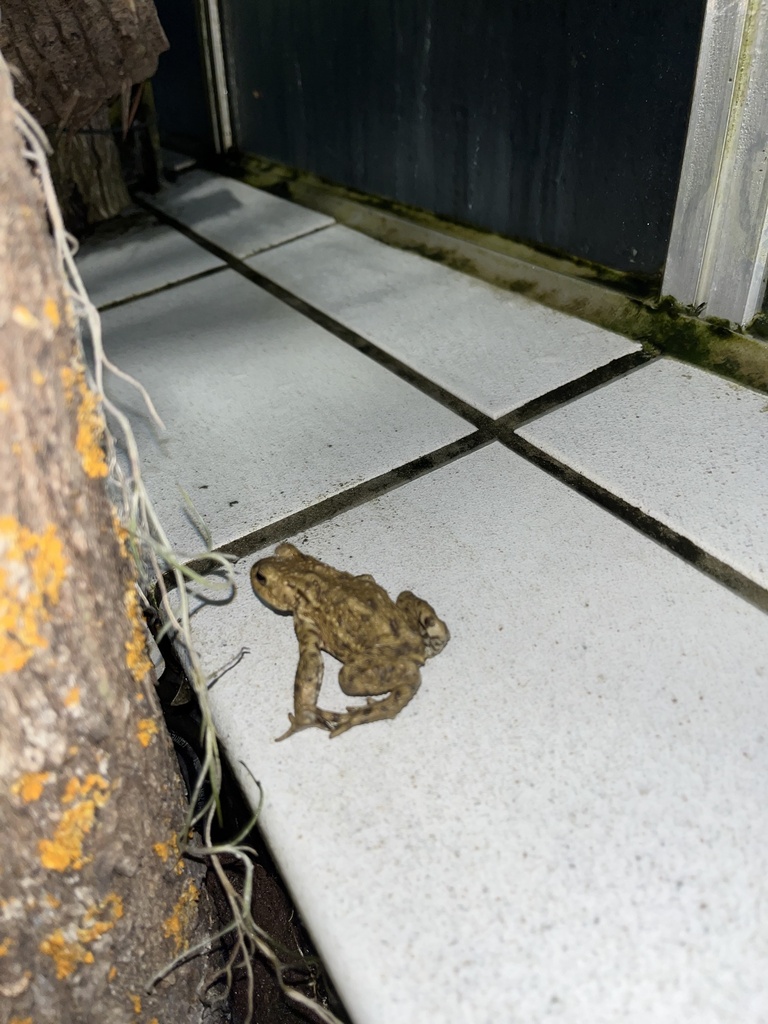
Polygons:
<instances>
[{"instance_id":1,"label":"small shaded white slab at far left, before the dark stump","mask_svg":"<svg viewBox=\"0 0 768 1024\"><path fill-rule=\"evenodd\" d=\"M223 266L165 224L142 224L117 238L86 242L76 257L91 302L104 306Z\"/></svg>"}]
</instances>

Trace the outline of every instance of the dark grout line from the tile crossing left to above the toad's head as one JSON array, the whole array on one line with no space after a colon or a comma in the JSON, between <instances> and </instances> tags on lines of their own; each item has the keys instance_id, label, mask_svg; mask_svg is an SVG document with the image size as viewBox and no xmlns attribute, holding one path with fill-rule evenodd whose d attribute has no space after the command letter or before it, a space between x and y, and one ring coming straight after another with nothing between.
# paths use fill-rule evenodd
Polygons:
<instances>
[{"instance_id":1,"label":"dark grout line from the tile crossing left to above the toad's head","mask_svg":"<svg viewBox=\"0 0 768 1024\"><path fill-rule=\"evenodd\" d=\"M411 480L425 476L434 469L439 469L451 462L455 462L470 452L476 452L478 449L490 444L495 439L490 432L475 430L464 437L460 437L459 440L445 444L441 449L436 449L434 452L419 456L418 459L390 469L386 473L373 477L371 480L364 480L362 483L347 487L337 495L332 495L330 498L315 502L313 505L309 505L299 512L293 512L282 519L276 519L274 522L270 522L266 526L261 526L259 529L255 529L245 537L239 537L237 540L230 541L228 544L223 544L215 550L220 554L233 555L236 560L239 561L241 558L245 558L247 555L253 554L255 551L265 548L268 545L275 544L286 537L291 537L305 529L311 529L323 522L327 522L329 519L335 518L342 512L347 512L349 509L364 505L374 498L380 498L382 495L388 494L390 490L394 490L396 487L402 486L402 484L409 483ZM201 575L205 575L214 568L219 568L216 562L205 557L196 558L186 564ZM172 578L168 573L166 573L166 585L175 587Z\"/></svg>"}]
</instances>

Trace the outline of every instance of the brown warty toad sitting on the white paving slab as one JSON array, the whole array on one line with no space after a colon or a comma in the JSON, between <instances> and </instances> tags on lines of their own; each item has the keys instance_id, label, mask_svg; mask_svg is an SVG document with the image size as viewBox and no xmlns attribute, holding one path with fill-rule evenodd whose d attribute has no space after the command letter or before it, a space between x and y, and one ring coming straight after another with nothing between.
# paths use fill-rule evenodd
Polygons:
<instances>
[{"instance_id":1,"label":"brown warty toad sitting on the white paving slab","mask_svg":"<svg viewBox=\"0 0 768 1024\"><path fill-rule=\"evenodd\" d=\"M251 585L275 611L293 614L299 641L294 714L280 739L311 726L339 736L354 725L394 718L419 689L421 667L451 639L426 601L408 591L392 601L373 577L332 568L292 544L255 562ZM344 693L367 696L367 705L346 713L317 707L323 650L342 663ZM384 693L383 700L373 699Z\"/></svg>"}]
</instances>

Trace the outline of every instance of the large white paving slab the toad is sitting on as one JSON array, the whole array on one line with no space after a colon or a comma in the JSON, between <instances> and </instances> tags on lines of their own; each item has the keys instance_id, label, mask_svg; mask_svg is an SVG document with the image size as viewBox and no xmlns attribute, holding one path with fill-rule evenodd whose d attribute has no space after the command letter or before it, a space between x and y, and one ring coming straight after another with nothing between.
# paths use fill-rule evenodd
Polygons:
<instances>
[{"instance_id":1,"label":"large white paving slab the toad is sitting on","mask_svg":"<svg viewBox=\"0 0 768 1024\"><path fill-rule=\"evenodd\" d=\"M194 620L355 1024L768 1020L768 617L499 444L295 540L452 631L394 721L275 743L253 558Z\"/></svg>"}]
</instances>

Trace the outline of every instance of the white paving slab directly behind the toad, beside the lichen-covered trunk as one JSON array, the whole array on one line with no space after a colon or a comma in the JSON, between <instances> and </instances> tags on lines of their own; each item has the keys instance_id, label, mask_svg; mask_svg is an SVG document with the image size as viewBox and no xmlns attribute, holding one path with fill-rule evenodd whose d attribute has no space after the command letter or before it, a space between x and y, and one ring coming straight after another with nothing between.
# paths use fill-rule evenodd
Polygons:
<instances>
[{"instance_id":1,"label":"white paving slab directly behind the toad, beside the lichen-covered trunk","mask_svg":"<svg viewBox=\"0 0 768 1024\"><path fill-rule=\"evenodd\" d=\"M143 475L171 540L214 546L473 432L466 421L232 270L104 313L104 346L153 396L109 393L131 415Z\"/></svg>"}]
</instances>

